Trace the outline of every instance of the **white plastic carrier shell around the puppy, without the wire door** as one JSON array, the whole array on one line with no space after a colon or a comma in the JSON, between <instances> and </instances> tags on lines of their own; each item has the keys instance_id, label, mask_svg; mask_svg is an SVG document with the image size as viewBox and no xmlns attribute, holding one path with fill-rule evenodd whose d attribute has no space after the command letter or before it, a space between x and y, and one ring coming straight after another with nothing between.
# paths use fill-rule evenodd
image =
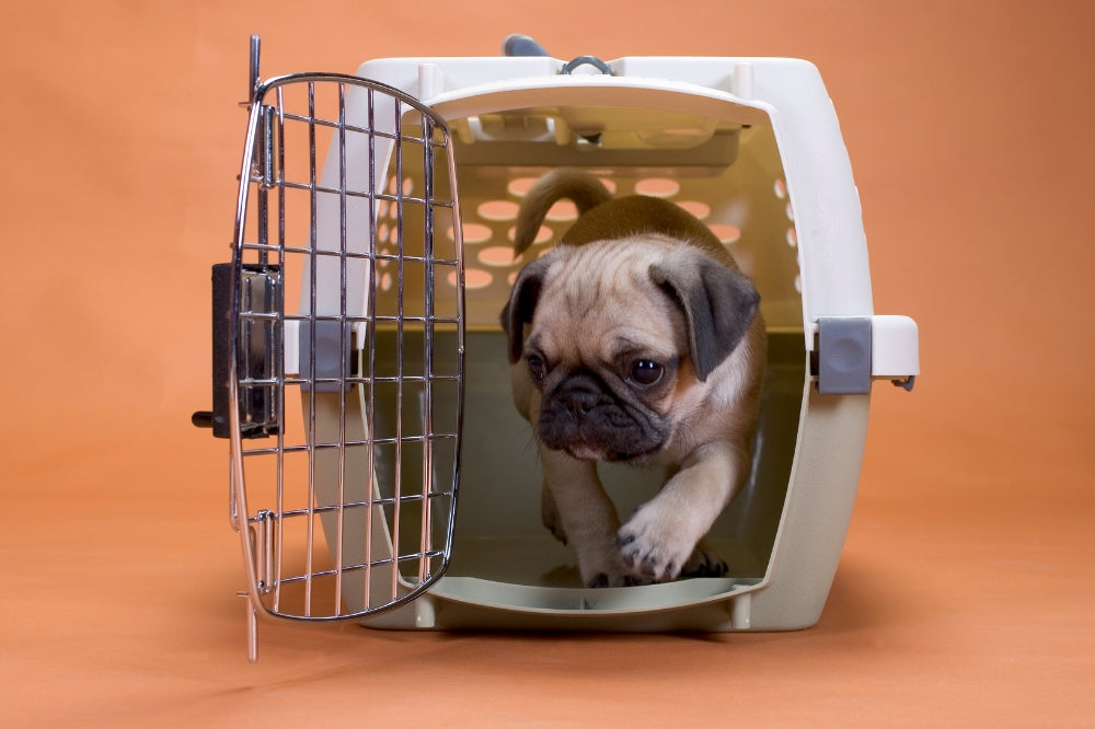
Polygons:
<instances>
[{"instance_id":1,"label":"white plastic carrier shell around the puppy, without the wire door","mask_svg":"<svg viewBox=\"0 0 1095 729\"><path fill-rule=\"evenodd\" d=\"M914 325L903 317L874 317L858 200L820 78L809 63L785 59L629 58L612 62L614 77L560 77L558 66L548 58L393 59L358 70L417 95L452 130L469 327L453 564L423 597L369 624L623 630L810 625L820 614L846 532L867 413L866 396L821 396L812 386L807 358L816 322L872 319L879 333L873 373L918 373ZM347 97L350 119L360 117L355 91ZM413 126L413 117L403 121ZM378 128L385 123L394 125L394 119L378 120ZM332 147L324 185L337 186L331 180L339 169L337 154ZM497 317L516 271L529 255L545 251L574 216L566 206L554 209L533 250L514 261L507 252L520 198L548 169L569 165L599 174L618 195L659 195L696 215L730 247L762 294L774 344L762 423L771 445L760 449L746 493L713 530L731 565L725 579L581 589L565 548L539 523L531 432L512 412ZM424 186L415 170L393 174L383 151L372 172L393 194L413 196ZM401 246L403 255L415 253L414 241L422 238L416 219L396 217L394 205L385 201L372 212L378 253L394 258ZM316 247L330 248L324 241L334 240L332 215L324 216L322 206L320 213ZM435 240L456 246L457 232L442 222ZM384 297L396 292L390 268L381 263L371 274L376 313L387 305ZM343 273L321 267L318 275L330 281ZM369 275L360 264L349 278ZM456 277L453 269L434 281L442 311L459 308ZM416 281L425 285L402 279L403 301L424 296ZM350 313L368 316L368 288L351 282L357 299ZM337 309L324 300L332 290L337 287L318 287L318 312ZM309 294L302 286L302 310ZM287 372L301 361L300 344L287 322ZM523 433L523 453L519 443L505 441L515 432ZM508 465L492 461L506 461L515 449L518 456ZM782 481L773 484L773 478ZM607 481L621 512L656 488L648 477L638 477L644 483L636 486L634 472L610 474ZM764 522L765 531L749 539L766 546L742 544L735 535L749 531L750 519ZM374 521L370 539L391 540L383 519ZM390 591L412 587L413 580L399 577ZM353 603L355 598L346 595ZM368 608L361 602L344 610Z\"/></svg>"}]
</instances>

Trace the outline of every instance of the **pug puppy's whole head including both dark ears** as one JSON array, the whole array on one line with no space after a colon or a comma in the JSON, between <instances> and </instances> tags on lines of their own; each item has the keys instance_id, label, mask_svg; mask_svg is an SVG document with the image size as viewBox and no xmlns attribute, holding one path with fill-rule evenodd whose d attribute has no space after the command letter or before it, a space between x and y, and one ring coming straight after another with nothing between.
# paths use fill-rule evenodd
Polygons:
<instances>
[{"instance_id":1,"label":"pug puppy's whole head including both dark ears","mask_svg":"<svg viewBox=\"0 0 1095 729\"><path fill-rule=\"evenodd\" d=\"M714 367L704 364L725 359L756 308L751 287L706 290L706 268L694 250L644 235L558 246L522 270L503 321L515 392L527 401L518 406L548 448L625 461L673 440L706 398ZM748 285L722 270L735 287ZM713 293L729 298L715 305ZM711 312L739 300L740 332L713 342L726 323L707 321Z\"/></svg>"}]
</instances>

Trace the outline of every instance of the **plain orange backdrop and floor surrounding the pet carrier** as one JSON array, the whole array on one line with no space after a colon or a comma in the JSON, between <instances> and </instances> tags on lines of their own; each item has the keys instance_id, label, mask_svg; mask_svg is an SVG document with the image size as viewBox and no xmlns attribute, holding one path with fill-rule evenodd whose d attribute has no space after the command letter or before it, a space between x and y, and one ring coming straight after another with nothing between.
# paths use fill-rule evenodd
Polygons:
<instances>
[{"instance_id":1,"label":"plain orange backdrop and floor surrounding the pet carrier","mask_svg":"<svg viewBox=\"0 0 1095 729\"><path fill-rule=\"evenodd\" d=\"M0 726L1095 726L1095 4L45 0L0 44ZM208 267L247 37L264 74L499 53L795 56L821 70L877 386L820 623L783 634L260 626L246 660Z\"/></svg>"}]
</instances>

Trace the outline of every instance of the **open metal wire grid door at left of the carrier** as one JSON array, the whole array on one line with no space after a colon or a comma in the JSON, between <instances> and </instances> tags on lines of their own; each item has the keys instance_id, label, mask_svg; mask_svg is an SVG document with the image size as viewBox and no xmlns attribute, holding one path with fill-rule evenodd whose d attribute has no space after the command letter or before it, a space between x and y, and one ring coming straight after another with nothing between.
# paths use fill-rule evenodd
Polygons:
<instances>
[{"instance_id":1,"label":"open metal wire grid door at left of the carrier","mask_svg":"<svg viewBox=\"0 0 1095 729\"><path fill-rule=\"evenodd\" d=\"M459 473L443 121L357 77L258 84L230 276L231 505L252 604L336 620L413 600L448 565Z\"/></svg>"}]
</instances>

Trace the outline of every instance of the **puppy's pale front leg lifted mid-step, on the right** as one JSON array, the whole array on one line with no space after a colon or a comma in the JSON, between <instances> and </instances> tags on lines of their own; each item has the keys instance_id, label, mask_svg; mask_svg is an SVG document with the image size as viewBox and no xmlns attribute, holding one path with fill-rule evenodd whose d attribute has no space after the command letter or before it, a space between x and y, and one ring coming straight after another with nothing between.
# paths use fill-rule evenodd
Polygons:
<instances>
[{"instance_id":1,"label":"puppy's pale front leg lifted mid-step, on the right","mask_svg":"<svg viewBox=\"0 0 1095 729\"><path fill-rule=\"evenodd\" d=\"M702 552L694 564L690 559L748 468L749 450L740 444L708 443L689 456L620 529L620 549L631 571L660 581L675 579L685 566L700 569L710 562Z\"/></svg>"}]
</instances>

